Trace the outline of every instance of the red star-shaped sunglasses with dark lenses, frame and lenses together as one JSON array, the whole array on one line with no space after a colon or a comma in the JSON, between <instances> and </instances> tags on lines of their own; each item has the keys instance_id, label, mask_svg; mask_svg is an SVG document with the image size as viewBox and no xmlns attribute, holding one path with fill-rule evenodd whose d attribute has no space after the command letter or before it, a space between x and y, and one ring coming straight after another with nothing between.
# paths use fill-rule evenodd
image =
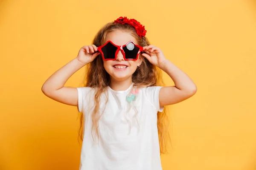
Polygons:
<instances>
[{"instance_id":1,"label":"red star-shaped sunglasses with dark lenses, frame and lenses together","mask_svg":"<svg viewBox=\"0 0 256 170\"><path fill-rule=\"evenodd\" d=\"M133 41L129 41L121 46L107 41L104 45L98 47L98 51L104 60L116 60L119 50L121 50L125 60L137 60L140 52L143 51L143 47L135 44Z\"/></svg>"}]
</instances>

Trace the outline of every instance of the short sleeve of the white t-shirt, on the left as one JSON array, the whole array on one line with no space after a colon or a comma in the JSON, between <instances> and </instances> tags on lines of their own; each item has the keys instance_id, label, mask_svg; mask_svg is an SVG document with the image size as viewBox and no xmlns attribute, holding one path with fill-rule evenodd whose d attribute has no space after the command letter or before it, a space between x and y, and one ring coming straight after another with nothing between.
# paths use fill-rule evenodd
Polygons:
<instances>
[{"instance_id":1,"label":"short sleeve of the white t-shirt, on the left","mask_svg":"<svg viewBox=\"0 0 256 170\"><path fill-rule=\"evenodd\" d=\"M92 96L93 89L88 87L77 88L78 91L78 106L79 112L83 112L84 108L89 105L90 97Z\"/></svg>"}]
</instances>

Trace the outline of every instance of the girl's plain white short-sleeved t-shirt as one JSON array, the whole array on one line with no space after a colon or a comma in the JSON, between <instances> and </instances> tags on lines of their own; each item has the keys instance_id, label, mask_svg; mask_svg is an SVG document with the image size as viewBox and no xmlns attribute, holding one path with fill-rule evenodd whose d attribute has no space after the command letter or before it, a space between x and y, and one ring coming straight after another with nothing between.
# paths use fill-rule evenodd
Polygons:
<instances>
[{"instance_id":1,"label":"girl's plain white short-sleeved t-shirt","mask_svg":"<svg viewBox=\"0 0 256 170\"><path fill-rule=\"evenodd\" d=\"M95 89L77 88L78 109L85 119L80 170L162 170L157 132L157 111L163 111L161 87L140 88L129 103L126 96L132 87L125 91L108 87L106 95L102 94L99 137L92 133Z\"/></svg>"}]
</instances>

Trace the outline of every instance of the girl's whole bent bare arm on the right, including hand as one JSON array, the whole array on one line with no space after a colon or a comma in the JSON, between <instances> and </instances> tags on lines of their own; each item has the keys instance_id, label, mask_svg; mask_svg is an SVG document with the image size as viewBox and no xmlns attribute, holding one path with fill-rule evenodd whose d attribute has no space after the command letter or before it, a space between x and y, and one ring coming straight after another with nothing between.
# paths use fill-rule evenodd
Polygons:
<instances>
[{"instance_id":1,"label":"girl's whole bent bare arm on the right, including hand","mask_svg":"<svg viewBox=\"0 0 256 170\"><path fill-rule=\"evenodd\" d=\"M143 50L145 53L142 55L146 57L151 64L165 71L175 83L175 86L163 87L160 89L160 108L165 105L182 102L196 93L197 87L192 79L166 59L159 48L154 45L149 45L143 47Z\"/></svg>"}]
</instances>

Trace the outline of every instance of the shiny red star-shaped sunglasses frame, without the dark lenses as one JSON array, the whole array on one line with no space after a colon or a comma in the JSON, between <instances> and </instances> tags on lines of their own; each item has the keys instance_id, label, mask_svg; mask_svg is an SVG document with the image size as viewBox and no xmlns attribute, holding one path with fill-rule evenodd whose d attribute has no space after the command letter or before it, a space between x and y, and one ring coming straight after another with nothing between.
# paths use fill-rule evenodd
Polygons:
<instances>
[{"instance_id":1,"label":"shiny red star-shaped sunglasses frame, without the dark lenses","mask_svg":"<svg viewBox=\"0 0 256 170\"><path fill-rule=\"evenodd\" d=\"M103 52L102 52L102 47L104 47L105 45L107 45L108 42L110 42L112 45L114 45L115 47L117 47L117 50L116 50L115 58L114 58L114 59L105 59L104 54L103 54ZM132 42L136 47L140 48L140 50L138 51L138 54L137 54L137 56L136 56L136 59L126 59L126 58L125 58L125 51L123 50L123 47L125 47L126 45L128 45L130 42ZM135 44L135 42L133 42L132 40L129 41L129 42L127 42L125 45L121 45L121 46L115 45L112 41L109 40L109 41L107 41L104 45L101 45L101 46L98 47L98 51L101 53L102 59L104 59L104 60L116 60L116 56L117 56L119 50L121 50L121 52L122 52L122 54L123 54L125 60L137 60L138 57L139 57L140 52L143 51L143 47L140 46L140 45Z\"/></svg>"}]
</instances>

